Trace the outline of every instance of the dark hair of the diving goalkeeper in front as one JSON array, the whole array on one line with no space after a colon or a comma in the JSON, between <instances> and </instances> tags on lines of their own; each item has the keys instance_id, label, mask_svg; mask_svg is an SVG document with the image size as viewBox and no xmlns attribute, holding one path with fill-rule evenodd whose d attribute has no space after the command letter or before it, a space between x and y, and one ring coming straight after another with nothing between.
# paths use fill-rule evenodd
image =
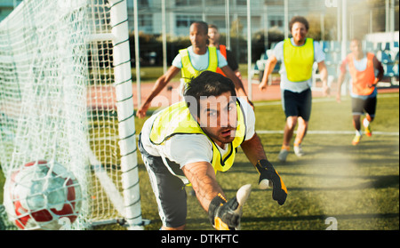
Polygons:
<instances>
[{"instance_id":1,"label":"dark hair of the diving goalkeeper in front","mask_svg":"<svg viewBox=\"0 0 400 248\"><path fill-rule=\"evenodd\" d=\"M184 98L190 113L198 116L201 98L218 97L225 92L230 92L232 97L236 97L235 84L232 80L219 73L205 70L188 82Z\"/></svg>"}]
</instances>

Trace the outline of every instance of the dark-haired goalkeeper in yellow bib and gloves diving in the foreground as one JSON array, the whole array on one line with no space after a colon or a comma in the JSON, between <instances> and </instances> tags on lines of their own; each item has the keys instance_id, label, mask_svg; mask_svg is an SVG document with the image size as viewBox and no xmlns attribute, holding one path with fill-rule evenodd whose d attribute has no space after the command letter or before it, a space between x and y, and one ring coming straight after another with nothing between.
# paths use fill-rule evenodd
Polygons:
<instances>
[{"instance_id":1,"label":"dark-haired goalkeeper in yellow bib and gloves diving in the foreground","mask_svg":"<svg viewBox=\"0 0 400 248\"><path fill-rule=\"evenodd\" d=\"M254 130L255 116L247 100L236 98L235 84L204 71L192 79L184 101L148 118L140 132L139 149L148 170L164 230L185 229L186 185L195 190L212 227L238 229L251 187L228 199L216 172L226 172L239 146L260 174L260 188L272 186L272 199L284 204L284 181L268 162ZM270 199L266 195L266 201Z\"/></svg>"}]
</instances>

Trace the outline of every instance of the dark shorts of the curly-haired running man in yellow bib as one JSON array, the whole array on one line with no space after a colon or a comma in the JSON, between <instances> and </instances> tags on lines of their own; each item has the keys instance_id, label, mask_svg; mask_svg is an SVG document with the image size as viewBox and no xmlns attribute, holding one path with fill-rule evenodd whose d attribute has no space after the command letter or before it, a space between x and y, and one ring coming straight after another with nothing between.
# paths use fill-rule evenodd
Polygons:
<instances>
[{"instance_id":1,"label":"dark shorts of the curly-haired running man in yellow bib","mask_svg":"<svg viewBox=\"0 0 400 248\"><path fill-rule=\"evenodd\" d=\"M300 93L284 90L282 97L284 114L286 117L301 116L308 122L311 116L311 101L311 89Z\"/></svg>"}]
</instances>

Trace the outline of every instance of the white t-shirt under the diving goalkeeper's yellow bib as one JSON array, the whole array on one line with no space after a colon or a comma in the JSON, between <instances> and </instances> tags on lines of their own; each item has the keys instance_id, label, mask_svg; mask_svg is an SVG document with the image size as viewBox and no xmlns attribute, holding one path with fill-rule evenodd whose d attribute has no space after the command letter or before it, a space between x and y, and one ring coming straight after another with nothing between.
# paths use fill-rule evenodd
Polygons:
<instances>
[{"instance_id":1,"label":"white t-shirt under the diving goalkeeper's yellow bib","mask_svg":"<svg viewBox=\"0 0 400 248\"><path fill-rule=\"evenodd\" d=\"M244 123L247 128L245 140L250 140L255 133L254 111L246 100L241 98L238 98L238 100L244 110ZM143 148L145 148L150 155L168 158L172 162L180 164L180 168L185 164L212 161L212 142L204 135L176 134L173 135L171 139L166 140L164 145L157 146L152 144L149 135L156 116L158 115L156 114L148 118L141 130ZM220 148L218 145L217 147ZM228 146L226 147L226 149L220 148L222 156L228 153Z\"/></svg>"}]
</instances>

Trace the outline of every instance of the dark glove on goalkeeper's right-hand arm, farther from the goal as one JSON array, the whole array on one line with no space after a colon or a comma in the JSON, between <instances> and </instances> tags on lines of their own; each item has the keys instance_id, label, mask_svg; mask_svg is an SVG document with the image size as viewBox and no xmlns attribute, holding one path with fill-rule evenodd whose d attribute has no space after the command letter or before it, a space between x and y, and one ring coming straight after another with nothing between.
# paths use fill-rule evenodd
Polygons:
<instances>
[{"instance_id":1,"label":"dark glove on goalkeeper's right-hand arm, farther from the goal","mask_svg":"<svg viewBox=\"0 0 400 248\"><path fill-rule=\"evenodd\" d=\"M284 201L286 201L287 189L274 166L272 166L267 159L261 159L257 162L256 168L260 173L260 188L267 188L264 187L264 184L267 182L268 185L268 182L272 181L272 198L276 200L278 204L283 205Z\"/></svg>"}]
</instances>

